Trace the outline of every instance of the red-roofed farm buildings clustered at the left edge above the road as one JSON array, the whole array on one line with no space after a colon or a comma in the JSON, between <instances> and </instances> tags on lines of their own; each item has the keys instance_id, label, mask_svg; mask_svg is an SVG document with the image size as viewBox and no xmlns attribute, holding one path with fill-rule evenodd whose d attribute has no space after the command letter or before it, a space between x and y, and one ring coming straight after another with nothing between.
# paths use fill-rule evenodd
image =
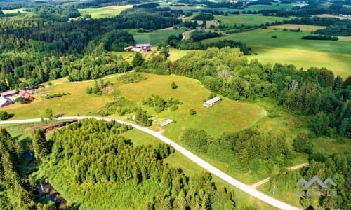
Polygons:
<instances>
[{"instance_id":1,"label":"red-roofed farm buildings clustered at the left edge above the road","mask_svg":"<svg viewBox=\"0 0 351 210\"><path fill-rule=\"evenodd\" d=\"M36 89L32 90L20 90L19 92L17 90L9 90L6 92L1 92L0 93L0 107L8 106L13 104L16 99L22 97L23 99L27 99L28 101L31 101L33 99L32 94L34 92L37 92Z\"/></svg>"}]
</instances>

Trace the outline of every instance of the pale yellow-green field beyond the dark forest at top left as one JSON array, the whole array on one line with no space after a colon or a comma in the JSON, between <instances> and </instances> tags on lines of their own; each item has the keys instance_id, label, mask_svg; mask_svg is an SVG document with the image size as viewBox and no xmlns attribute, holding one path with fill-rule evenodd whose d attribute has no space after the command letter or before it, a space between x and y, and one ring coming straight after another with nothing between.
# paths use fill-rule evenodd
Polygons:
<instances>
[{"instance_id":1,"label":"pale yellow-green field beyond the dark forest at top left","mask_svg":"<svg viewBox=\"0 0 351 210\"><path fill-rule=\"evenodd\" d=\"M100 8L85 8L79 9L79 13L82 16L91 15L91 18L109 18L116 15L119 15L121 11L128 8L132 8L133 5L123 5L123 6L106 6Z\"/></svg>"}]
</instances>

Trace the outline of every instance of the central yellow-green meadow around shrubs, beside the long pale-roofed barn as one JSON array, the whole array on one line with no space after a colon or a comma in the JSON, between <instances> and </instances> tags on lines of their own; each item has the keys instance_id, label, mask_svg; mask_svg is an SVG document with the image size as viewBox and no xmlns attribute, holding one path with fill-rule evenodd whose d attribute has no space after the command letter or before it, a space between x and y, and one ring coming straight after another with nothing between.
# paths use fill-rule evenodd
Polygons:
<instances>
[{"instance_id":1,"label":"central yellow-green meadow around shrubs, beside the long pale-roofed barn","mask_svg":"<svg viewBox=\"0 0 351 210\"><path fill-rule=\"evenodd\" d=\"M190 127L204 129L214 137L218 137L225 131L250 127L265 116L265 109L257 104L234 102L226 98L214 106L204 107L203 101L208 98L210 91L197 80L176 75L159 76L146 73L143 75L147 80L119 85L119 92L122 96L138 102L139 105L142 99L147 99L152 94L158 94L164 99L173 97L183 102L176 111L153 112L159 119L171 118L176 121L165 128L165 134L172 139L178 139L179 134ZM178 85L176 90L171 89L173 81ZM152 109L147 106L143 108L152 112ZM197 114L190 116L190 109L195 109Z\"/></svg>"}]
</instances>

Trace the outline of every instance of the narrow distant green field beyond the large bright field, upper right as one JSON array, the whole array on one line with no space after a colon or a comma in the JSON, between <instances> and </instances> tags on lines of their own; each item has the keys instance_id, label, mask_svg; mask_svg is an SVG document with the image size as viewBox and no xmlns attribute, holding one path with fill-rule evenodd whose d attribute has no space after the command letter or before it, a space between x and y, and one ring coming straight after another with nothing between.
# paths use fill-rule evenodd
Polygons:
<instances>
[{"instance_id":1,"label":"narrow distant green field beyond the large bright field, upper right","mask_svg":"<svg viewBox=\"0 0 351 210\"><path fill-rule=\"evenodd\" d=\"M282 20L289 20L291 18L281 18L281 17L274 17L274 16L263 16L263 15L215 15L216 20L220 20L221 25L261 25L265 24L266 22L275 22L275 21L282 21Z\"/></svg>"}]
</instances>

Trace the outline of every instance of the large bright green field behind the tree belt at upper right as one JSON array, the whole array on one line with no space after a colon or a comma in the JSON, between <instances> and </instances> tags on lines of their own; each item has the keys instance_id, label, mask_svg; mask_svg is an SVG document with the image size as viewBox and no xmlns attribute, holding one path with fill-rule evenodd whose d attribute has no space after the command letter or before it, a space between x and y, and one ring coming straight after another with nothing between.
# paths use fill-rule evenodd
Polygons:
<instances>
[{"instance_id":1,"label":"large bright green field behind the tree belt at upper right","mask_svg":"<svg viewBox=\"0 0 351 210\"><path fill-rule=\"evenodd\" d=\"M272 38L272 36L277 38ZM310 32L289 32L282 29L256 29L230 36L211 38L204 43L218 39L241 41L249 45L257 55L248 56L257 58L260 62L275 64L294 64L298 69L310 67L326 67L335 75L344 79L350 76L351 69L351 41L319 41L302 40L302 36Z\"/></svg>"}]
</instances>

